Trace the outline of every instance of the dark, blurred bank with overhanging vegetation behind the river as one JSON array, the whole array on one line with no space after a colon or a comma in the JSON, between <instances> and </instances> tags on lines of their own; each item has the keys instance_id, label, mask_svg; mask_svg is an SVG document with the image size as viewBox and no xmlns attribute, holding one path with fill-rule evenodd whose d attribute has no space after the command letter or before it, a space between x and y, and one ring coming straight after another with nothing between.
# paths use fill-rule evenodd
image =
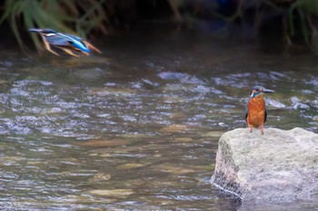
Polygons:
<instances>
[{"instance_id":1,"label":"dark, blurred bank with overhanging vegetation behind the river","mask_svg":"<svg viewBox=\"0 0 318 211\"><path fill-rule=\"evenodd\" d=\"M38 51L43 48L36 34L28 34L29 28L91 39L191 31L318 50L317 0L5 0L0 10L1 45L13 38L25 52L28 43Z\"/></svg>"}]
</instances>

